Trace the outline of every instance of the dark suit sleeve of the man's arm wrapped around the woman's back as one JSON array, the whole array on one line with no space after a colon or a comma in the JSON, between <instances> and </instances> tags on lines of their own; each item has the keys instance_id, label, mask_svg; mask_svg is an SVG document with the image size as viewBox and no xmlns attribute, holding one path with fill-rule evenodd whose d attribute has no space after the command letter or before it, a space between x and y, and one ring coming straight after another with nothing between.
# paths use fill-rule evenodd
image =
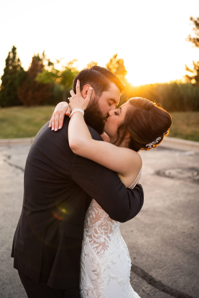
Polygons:
<instances>
[{"instance_id":1,"label":"dark suit sleeve of the man's arm wrapped around the woman's back","mask_svg":"<svg viewBox=\"0 0 199 298\"><path fill-rule=\"evenodd\" d=\"M96 136L93 138L100 140ZM142 208L144 194L140 184L133 190L126 188L117 173L89 159L75 154L71 176L113 220L128 221Z\"/></svg>"}]
</instances>

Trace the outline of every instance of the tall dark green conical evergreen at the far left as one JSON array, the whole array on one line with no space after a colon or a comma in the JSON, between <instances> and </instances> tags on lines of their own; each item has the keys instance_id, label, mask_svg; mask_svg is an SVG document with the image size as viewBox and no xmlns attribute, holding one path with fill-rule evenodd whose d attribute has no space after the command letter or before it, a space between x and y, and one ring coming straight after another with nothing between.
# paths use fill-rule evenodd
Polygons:
<instances>
[{"instance_id":1,"label":"tall dark green conical evergreen at the far left","mask_svg":"<svg viewBox=\"0 0 199 298\"><path fill-rule=\"evenodd\" d=\"M21 105L17 89L24 77L24 69L17 57L15 46L8 53L5 64L4 74L1 77L0 106Z\"/></svg>"}]
</instances>

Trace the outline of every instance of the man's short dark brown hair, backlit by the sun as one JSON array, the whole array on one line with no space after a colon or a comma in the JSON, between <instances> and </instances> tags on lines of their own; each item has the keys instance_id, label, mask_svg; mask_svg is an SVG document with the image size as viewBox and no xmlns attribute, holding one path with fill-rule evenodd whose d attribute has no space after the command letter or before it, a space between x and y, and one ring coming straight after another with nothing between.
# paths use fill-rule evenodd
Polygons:
<instances>
[{"instance_id":1,"label":"man's short dark brown hair, backlit by the sun","mask_svg":"<svg viewBox=\"0 0 199 298\"><path fill-rule=\"evenodd\" d=\"M80 80L81 91L86 84L89 84L92 86L97 96L101 96L102 92L109 88L110 82L118 87L120 93L123 92L125 86L116 75L107 68L100 66L92 66L91 68L83 69L76 75L73 80L73 90L75 94L77 80Z\"/></svg>"}]
</instances>

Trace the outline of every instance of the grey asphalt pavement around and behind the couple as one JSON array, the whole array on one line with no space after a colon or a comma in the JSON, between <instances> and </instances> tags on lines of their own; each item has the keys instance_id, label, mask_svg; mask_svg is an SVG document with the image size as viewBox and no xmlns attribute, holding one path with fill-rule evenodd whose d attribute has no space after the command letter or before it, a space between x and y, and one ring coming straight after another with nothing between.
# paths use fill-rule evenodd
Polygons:
<instances>
[{"instance_id":1,"label":"grey asphalt pavement around and behind the couple","mask_svg":"<svg viewBox=\"0 0 199 298\"><path fill-rule=\"evenodd\" d=\"M0 297L27 297L10 257L32 138L0 140ZM144 206L121 224L141 298L198 298L199 142L168 138L141 151ZM114 297L110 297L114 298Z\"/></svg>"}]
</instances>

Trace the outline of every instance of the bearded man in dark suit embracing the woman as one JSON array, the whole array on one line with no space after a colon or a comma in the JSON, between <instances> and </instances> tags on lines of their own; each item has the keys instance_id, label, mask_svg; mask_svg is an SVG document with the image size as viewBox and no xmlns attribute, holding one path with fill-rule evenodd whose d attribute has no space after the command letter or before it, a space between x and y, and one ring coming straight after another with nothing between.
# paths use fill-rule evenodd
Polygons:
<instances>
[{"instance_id":1,"label":"bearded man in dark suit embracing the woman","mask_svg":"<svg viewBox=\"0 0 199 298\"><path fill-rule=\"evenodd\" d=\"M92 138L102 140L99 134L124 85L99 66L82 70L74 79L74 91L77 79L84 92L93 87L85 119ZM70 150L68 123L65 117L57 133L45 124L27 156L23 208L11 256L29 298L80 297L84 216L92 198L120 222L133 218L143 205L141 185L127 189L117 173Z\"/></svg>"}]
</instances>

